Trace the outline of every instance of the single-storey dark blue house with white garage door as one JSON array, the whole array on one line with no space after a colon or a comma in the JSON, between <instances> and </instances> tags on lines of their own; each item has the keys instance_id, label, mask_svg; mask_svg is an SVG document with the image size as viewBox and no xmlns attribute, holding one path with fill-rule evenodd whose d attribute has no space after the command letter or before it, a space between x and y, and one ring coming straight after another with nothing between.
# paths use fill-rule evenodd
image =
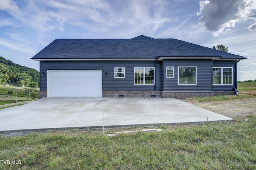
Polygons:
<instances>
[{"instance_id":1,"label":"single-storey dark blue house with white garage door","mask_svg":"<svg viewBox=\"0 0 256 170\"><path fill-rule=\"evenodd\" d=\"M239 55L178 39L56 39L40 62L43 97L162 97L235 94Z\"/></svg>"}]
</instances>

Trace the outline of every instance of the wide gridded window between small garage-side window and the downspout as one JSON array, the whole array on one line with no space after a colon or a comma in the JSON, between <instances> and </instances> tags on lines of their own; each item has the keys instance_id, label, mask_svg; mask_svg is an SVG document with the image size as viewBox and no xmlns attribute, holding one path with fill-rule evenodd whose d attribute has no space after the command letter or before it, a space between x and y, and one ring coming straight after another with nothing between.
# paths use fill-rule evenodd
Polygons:
<instances>
[{"instance_id":1,"label":"wide gridded window between small garage-side window and the downspout","mask_svg":"<svg viewBox=\"0 0 256 170\"><path fill-rule=\"evenodd\" d=\"M154 73L154 67L134 67L134 84L155 84Z\"/></svg>"}]
</instances>

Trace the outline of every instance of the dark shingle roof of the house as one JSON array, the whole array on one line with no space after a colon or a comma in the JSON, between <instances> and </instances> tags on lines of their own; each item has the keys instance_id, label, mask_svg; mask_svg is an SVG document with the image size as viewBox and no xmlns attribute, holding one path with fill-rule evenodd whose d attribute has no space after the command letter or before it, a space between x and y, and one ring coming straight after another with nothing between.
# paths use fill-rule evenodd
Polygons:
<instances>
[{"instance_id":1,"label":"dark shingle roof of the house","mask_svg":"<svg viewBox=\"0 0 256 170\"><path fill-rule=\"evenodd\" d=\"M157 57L245 57L210 49L178 39L56 39L32 59L100 59Z\"/></svg>"}]
</instances>

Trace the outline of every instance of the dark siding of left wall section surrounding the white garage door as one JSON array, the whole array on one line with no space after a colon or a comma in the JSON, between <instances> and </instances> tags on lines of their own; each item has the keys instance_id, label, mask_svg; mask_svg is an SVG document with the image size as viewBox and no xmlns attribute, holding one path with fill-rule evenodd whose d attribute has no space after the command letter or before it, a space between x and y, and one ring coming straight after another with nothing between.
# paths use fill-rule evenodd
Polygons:
<instances>
[{"instance_id":1,"label":"dark siding of left wall section surrounding the white garage door","mask_svg":"<svg viewBox=\"0 0 256 170\"><path fill-rule=\"evenodd\" d=\"M114 67L125 67L125 78L114 78ZM40 90L47 90L47 70L102 70L102 90L155 90L154 85L134 85L134 67L155 67L154 61L40 61ZM108 75L105 75L108 72ZM161 62L155 68L156 90L162 89Z\"/></svg>"}]
</instances>

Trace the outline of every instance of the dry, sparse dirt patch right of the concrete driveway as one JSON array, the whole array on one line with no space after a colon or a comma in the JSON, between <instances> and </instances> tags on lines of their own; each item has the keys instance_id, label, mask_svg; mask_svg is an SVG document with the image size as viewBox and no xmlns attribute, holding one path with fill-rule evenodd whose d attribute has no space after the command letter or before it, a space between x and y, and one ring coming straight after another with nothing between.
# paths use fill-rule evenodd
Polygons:
<instances>
[{"instance_id":1,"label":"dry, sparse dirt patch right of the concrete driveway","mask_svg":"<svg viewBox=\"0 0 256 170\"><path fill-rule=\"evenodd\" d=\"M245 117L249 114L256 115L256 99L189 103L230 118Z\"/></svg>"}]
</instances>

